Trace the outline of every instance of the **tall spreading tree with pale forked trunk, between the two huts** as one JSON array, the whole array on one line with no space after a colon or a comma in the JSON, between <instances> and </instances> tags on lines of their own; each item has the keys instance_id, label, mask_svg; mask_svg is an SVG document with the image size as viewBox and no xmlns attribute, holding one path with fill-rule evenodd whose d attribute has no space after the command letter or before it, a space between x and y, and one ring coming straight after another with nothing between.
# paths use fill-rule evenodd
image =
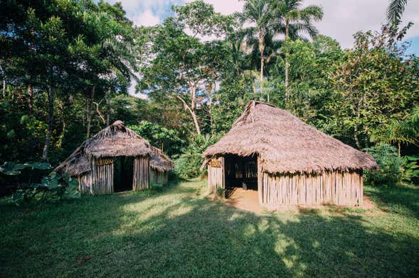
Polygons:
<instances>
[{"instance_id":1,"label":"tall spreading tree with pale forked trunk, between the two huts","mask_svg":"<svg viewBox=\"0 0 419 278\"><path fill-rule=\"evenodd\" d=\"M214 83L223 52L213 50L223 45L202 43L198 36L226 33L232 21L201 0L173 9L176 18L167 18L162 26L149 29L152 46L147 47L154 57L144 62L139 89L154 98L156 94L164 94L181 101L191 115L196 133L201 134L196 113L197 96L205 96L208 82Z\"/></svg>"}]
</instances>

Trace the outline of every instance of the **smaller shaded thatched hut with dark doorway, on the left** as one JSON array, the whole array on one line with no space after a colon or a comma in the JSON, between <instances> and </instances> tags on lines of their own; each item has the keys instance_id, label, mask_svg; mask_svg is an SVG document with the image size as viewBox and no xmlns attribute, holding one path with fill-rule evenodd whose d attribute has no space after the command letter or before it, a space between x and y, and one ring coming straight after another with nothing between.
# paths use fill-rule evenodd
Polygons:
<instances>
[{"instance_id":1,"label":"smaller shaded thatched hut with dark doorway, on the left","mask_svg":"<svg viewBox=\"0 0 419 278\"><path fill-rule=\"evenodd\" d=\"M83 194L96 195L147 189L153 182L167 182L167 171L173 167L161 150L122 121L115 121L85 140L55 171L77 177ZM158 181L151 177L155 172L161 175Z\"/></svg>"}]
</instances>

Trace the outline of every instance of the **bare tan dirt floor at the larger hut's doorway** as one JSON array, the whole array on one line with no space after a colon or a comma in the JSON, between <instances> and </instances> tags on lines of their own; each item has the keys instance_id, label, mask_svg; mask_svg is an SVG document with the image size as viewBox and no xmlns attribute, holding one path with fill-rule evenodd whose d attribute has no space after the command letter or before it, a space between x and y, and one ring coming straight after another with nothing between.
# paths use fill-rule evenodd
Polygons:
<instances>
[{"instance_id":1,"label":"bare tan dirt floor at the larger hut's doorway","mask_svg":"<svg viewBox=\"0 0 419 278\"><path fill-rule=\"evenodd\" d=\"M226 194L228 194L226 204L230 206L256 213L263 211L263 208L259 206L259 196L257 190L244 190L240 187L230 187Z\"/></svg>"}]
</instances>

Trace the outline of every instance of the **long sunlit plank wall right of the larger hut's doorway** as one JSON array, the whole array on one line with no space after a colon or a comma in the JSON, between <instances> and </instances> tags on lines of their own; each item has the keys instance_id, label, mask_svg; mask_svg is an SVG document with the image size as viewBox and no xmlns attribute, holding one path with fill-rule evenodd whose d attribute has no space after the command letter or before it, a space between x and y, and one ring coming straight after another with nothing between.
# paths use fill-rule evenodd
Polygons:
<instances>
[{"instance_id":1,"label":"long sunlit plank wall right of the larger hut's doorway","mask_svg":"<svg viewBox=\"0 0 419 278\"><path fill-rule=\"evenodd\" d=\"M262 173L259 184L263 205L361 206L364 195L361 170L302 175Z\"/></svg>"}]
</instances>

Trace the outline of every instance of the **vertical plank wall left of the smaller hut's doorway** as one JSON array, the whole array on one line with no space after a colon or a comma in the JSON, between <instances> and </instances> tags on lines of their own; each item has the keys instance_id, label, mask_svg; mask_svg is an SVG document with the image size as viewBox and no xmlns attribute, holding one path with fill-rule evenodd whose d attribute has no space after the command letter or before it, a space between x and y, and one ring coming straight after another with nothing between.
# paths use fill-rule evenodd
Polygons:
<instances>
[{"instance_id":1,"label":"vertical plank wall left of the smaller hut's doorway","mask_svg":"<svg viewBox=\"0 0 419 278\"><path fill-rule=\"evenodd\" d=\"M111 194L114 191L114 165L97 165L96 159L92 157L92 187L90 194L102 195Z\"/></svg>"}]
</instances>

